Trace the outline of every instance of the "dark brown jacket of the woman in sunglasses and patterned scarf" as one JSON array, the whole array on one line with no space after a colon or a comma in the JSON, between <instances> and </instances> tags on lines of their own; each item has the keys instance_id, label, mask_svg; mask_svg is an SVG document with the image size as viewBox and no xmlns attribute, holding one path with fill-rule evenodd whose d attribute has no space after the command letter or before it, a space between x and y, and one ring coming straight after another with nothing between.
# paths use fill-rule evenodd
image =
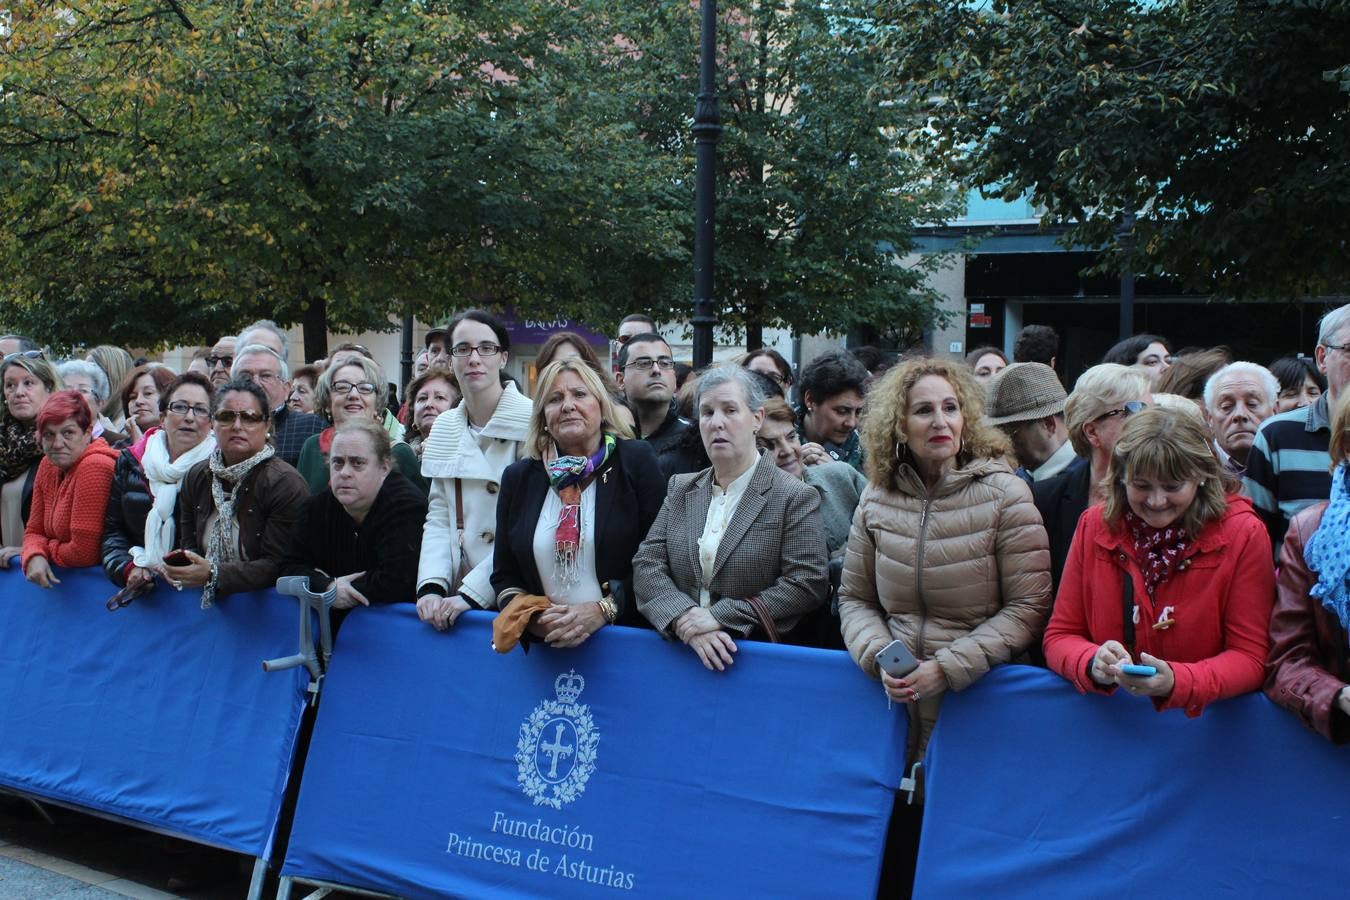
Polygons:
<instances>
[{"instance_id":1,"label":"dark brown jacket of the woman in sunglasses and patterned scarf","mask_svg":"<svg viewBox=\"0 0 1350 900\"><path fill-rule=\"evenodd\" d=\"M309 499L309 486L289 463L273 456L254 467L238 488L242 559L220 565L216 595L258 591L277 584L281 560L290 545L290 529ZM178 493L178 541L184 549L207 555L207 525L216 511L211 497L211 460L192 467Z\"/></svg>"}]
</instances>

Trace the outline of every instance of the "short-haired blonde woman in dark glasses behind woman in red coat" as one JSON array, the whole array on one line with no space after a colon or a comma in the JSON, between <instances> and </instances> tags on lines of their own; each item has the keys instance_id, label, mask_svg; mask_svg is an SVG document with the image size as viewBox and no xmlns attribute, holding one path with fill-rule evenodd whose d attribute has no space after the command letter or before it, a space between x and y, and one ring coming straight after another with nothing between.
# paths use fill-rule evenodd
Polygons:
<instances>
[{"instance_id":1,"label":"short-haired blonde woman in dark glasses behind woman in red coat","mask_svg":"<svg viewBox=\"0 0 1350 900\"><path fill-rule=\"evenodd\" d=\"M1077 459L1054 478L1031 486L1050 538L1050 576L1056 586L1083 510L1106 499L1102 483L1126 420L1152 403L1148 376L1116 363L1083 372L1064 401L1064 424Z\"/></svg>"}]
</instances>

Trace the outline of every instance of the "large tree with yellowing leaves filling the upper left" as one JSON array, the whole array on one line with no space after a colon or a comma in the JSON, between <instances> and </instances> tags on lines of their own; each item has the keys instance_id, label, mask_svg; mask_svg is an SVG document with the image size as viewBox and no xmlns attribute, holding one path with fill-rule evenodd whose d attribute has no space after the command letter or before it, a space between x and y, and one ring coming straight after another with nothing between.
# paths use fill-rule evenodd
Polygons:
<instances>
[{"instance_id":1,"label":"large tree with yellowing leaves filling the upper left","mask_svg":"<svg viewBox=\"0 0 1350 900\"><path fill-rule=\"evenodd\" d=\"M0 285L58 344L467 304L601 321L686 263L603 4L14 7Z\"/></svg>"}]
</instances>

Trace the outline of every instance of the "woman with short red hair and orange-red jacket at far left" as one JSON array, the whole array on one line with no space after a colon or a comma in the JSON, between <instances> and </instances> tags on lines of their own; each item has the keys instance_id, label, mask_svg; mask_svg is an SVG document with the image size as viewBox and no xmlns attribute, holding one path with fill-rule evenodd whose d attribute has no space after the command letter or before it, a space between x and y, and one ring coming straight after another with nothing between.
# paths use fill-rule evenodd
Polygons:
<instances>
[{"instance_id":1,"label":"woman with short red hair and orange-red jacket at far left","mask_svg":"<svg viewBox=\"0 0 1350 900\"><path fill-rule=\"evenodd\" d=\"M53 565L99 564L103 509L117 452L93 436L93 413L78 391L57 391L38 413L42 461L23 534L23 573L39 587L61 582Z\"/></svg>"}]
</instances>

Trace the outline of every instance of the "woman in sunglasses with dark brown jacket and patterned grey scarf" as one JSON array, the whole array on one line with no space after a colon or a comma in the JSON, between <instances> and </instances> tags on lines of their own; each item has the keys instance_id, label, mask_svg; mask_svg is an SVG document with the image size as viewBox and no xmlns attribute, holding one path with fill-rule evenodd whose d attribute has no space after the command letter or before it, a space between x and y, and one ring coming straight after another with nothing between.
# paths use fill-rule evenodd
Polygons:
<instances>
[{"instance_id":1,"label":"woman in sunglasses with dark brown jacket and patterned grey scarf","mask_svg":"<svg viewBox=\"0 0 1350 900\"><path fill-rule=\"evenodd\" d=\"M178 502L188 564L158 568L173 587L200 587L202 609L228 594L275 586L309 498L305 479L267 443L271 403L252 379L221 385L211 418L216 449L184 476Z\"/></svg>"}]
</instances>

